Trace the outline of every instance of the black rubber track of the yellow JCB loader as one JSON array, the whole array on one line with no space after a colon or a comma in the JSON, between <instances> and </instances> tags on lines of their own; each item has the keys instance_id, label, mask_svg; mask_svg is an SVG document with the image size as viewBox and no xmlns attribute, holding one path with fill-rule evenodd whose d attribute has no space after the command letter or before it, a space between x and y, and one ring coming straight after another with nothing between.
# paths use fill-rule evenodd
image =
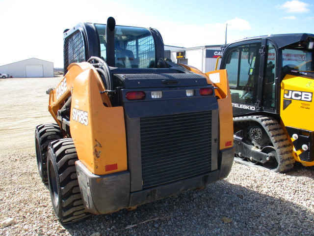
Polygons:
<instances>
[{"instance_id":1,"label":"black rubber track of the yellow JCB loader","mask_svg":"<svg viewBox=\"0 0 314 236\"><path fill-rule=\"evenodd\" d=\"M285 173L293 168L295 162L292 156L292 146L288 137L278 121L271 117L265 116L247 116L234 118L234 124L237 122L258 122L266 131L273 147L276 149L278 156L278 167L273 172ZM243 162L241 162L243 164ZM266 169L266 168L263 168ZM267 169L269 170L269 169Z\"/></svg>"}]
</instances>

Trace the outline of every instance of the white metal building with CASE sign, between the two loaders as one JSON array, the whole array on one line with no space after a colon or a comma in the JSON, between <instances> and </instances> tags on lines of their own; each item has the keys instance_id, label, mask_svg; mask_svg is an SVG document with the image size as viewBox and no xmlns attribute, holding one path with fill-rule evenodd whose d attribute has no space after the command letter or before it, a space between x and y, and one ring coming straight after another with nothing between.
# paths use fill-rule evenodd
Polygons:
<instances>
[{"instance_id":1,"label":"white metal building with CASE sign, between the two loaders","mask_svg":"<svg viewBox=\"0 0 314 236\"><path fill-rule=\"evenodd\" d=\"M165 52L167 49L165 47ZM219 56L222 56L221 45L170 49L170 59L173 62L194 66L202 72L214 70ZM220 60L218 68L219 66Z\"/></svg>"}]
</instances>

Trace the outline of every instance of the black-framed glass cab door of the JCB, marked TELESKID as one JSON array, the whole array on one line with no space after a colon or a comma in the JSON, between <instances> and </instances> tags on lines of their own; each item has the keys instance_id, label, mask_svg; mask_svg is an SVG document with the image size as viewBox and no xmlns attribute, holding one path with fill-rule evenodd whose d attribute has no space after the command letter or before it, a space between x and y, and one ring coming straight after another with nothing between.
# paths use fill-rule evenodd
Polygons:
<instances>
[{"instance_id":1,"label":"black-framed glass cab door of the JCB, marked TELESKID","mask_svg":"<svg viewBox=\"0 0 314 236\"><path fill-rule=\"evenodd\" d=\"M265 48L262 44L262 40L239 42L228 46L223 53L221 68L227 69L234 115L261 109L263 77L260 68L263 68Z\"/></svg>"}]
</instances>

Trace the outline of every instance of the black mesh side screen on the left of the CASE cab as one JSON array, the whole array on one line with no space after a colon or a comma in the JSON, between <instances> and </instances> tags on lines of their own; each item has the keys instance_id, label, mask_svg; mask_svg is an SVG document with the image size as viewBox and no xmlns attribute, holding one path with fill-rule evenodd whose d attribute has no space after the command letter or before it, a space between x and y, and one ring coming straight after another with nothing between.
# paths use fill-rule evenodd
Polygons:
<instances>
[{"instance_id":1,"label":"black mesh side screen on the left of the CASE cab","mask_svg":"<svg viewBox=\"0 0 314 236\"><path fill-rule=\"evenodd\" d=\"M85 46L82 33L77 30L64 39L64 74L71 63L85 61Z\"/></svg>"}]
</instances>

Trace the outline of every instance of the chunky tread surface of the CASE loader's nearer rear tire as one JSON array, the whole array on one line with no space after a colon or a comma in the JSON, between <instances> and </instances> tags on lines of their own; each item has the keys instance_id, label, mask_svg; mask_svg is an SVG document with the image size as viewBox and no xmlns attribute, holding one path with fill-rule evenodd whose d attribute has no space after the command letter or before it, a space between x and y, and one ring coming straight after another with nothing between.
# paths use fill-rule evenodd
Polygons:
<instances>
[{"instance_id":1,"label":"chunky tread surface of the CASE loader's nearer rear tire","mask_svg":"<svg viewBox=\"0 0 314 236\"><path fill-rule=\"evenodd\" d=\"M51 144L55 154L57 172L60 180L61 212L59 220L62 224L72 223L88 217L82 202L75 162L78 160L72 139L60 139Z\"/></svg>"}]
</instances>

